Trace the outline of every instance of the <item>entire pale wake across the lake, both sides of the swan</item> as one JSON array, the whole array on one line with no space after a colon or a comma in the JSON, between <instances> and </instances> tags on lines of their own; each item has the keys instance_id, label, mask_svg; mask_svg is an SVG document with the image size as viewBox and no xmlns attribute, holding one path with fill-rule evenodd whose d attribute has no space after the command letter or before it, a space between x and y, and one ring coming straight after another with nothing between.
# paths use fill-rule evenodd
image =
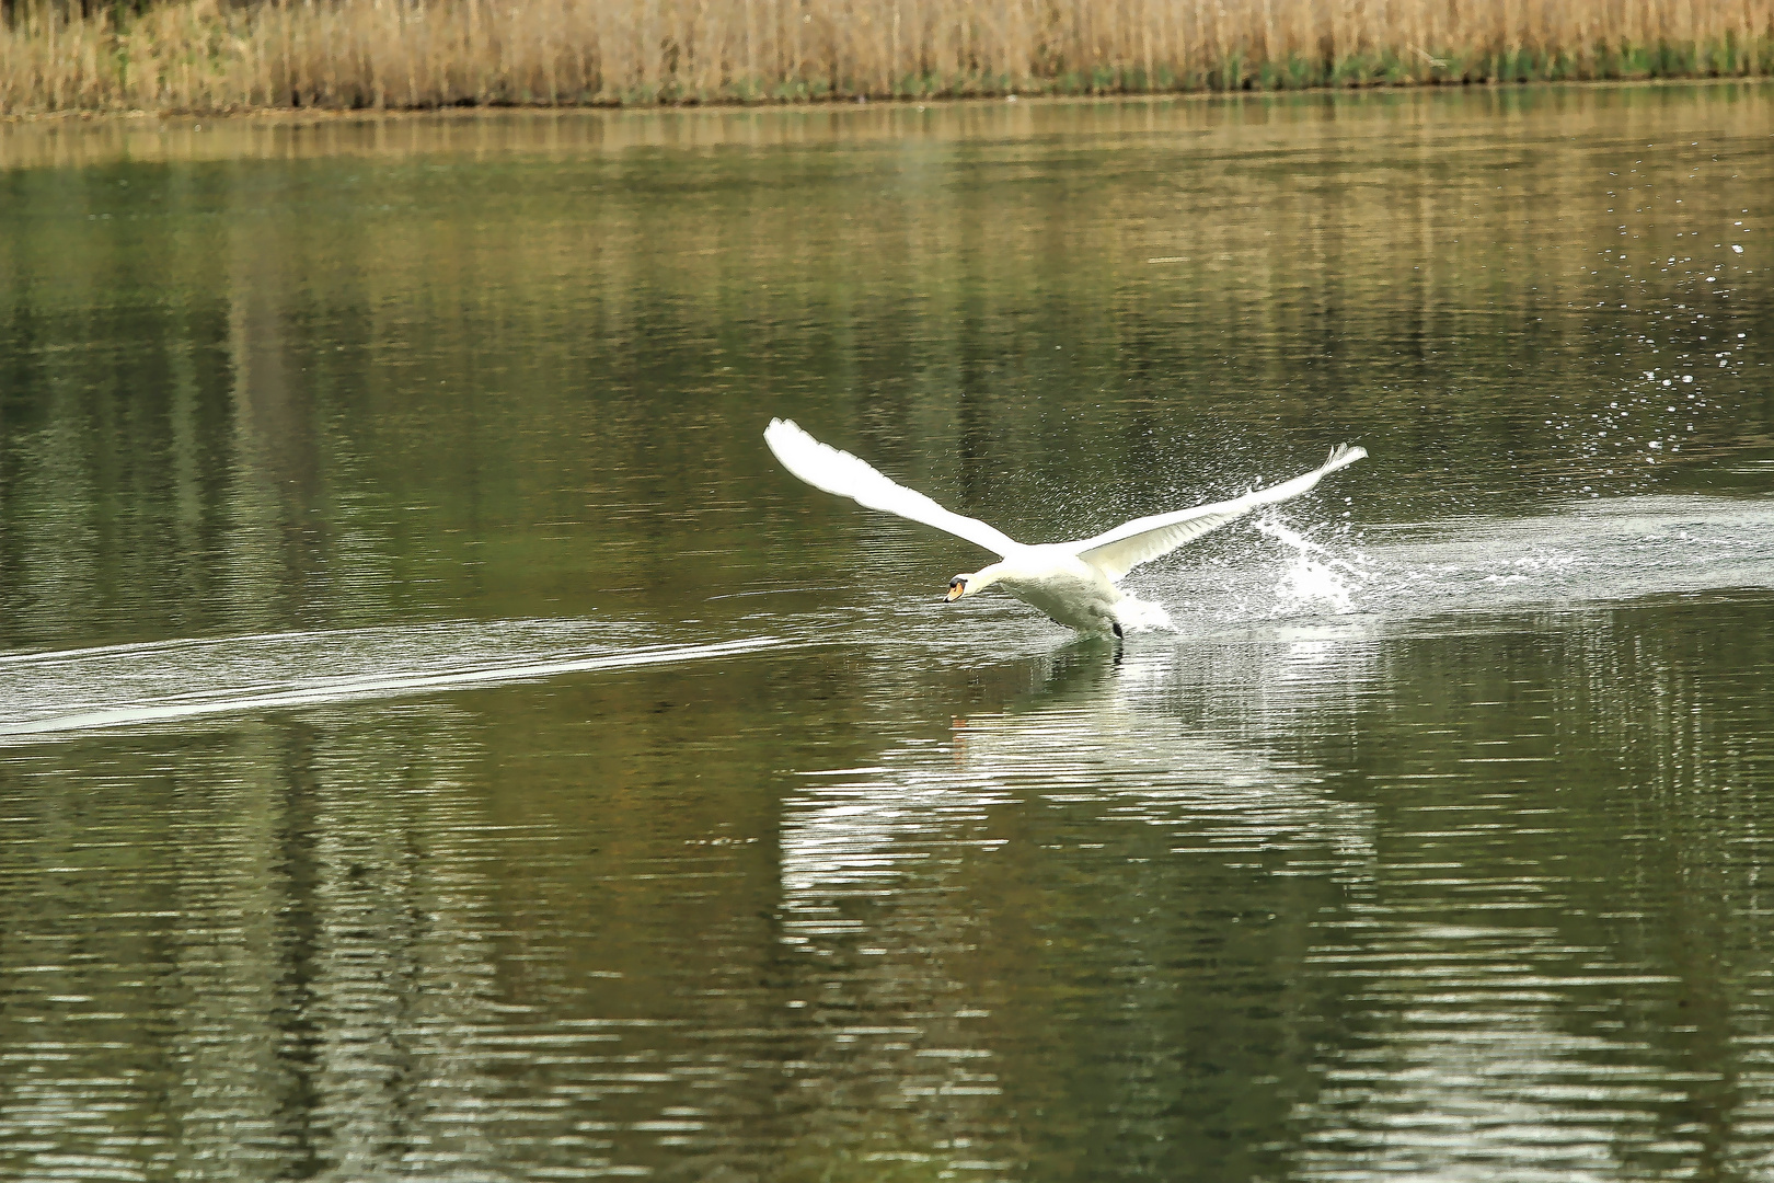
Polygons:
<instances>
[{"instance_id":1,"label":"entire pale wake across the lake, both sides of the swan","mask_svg":"<svg viewBox=\"0 0 1774 1183\"><path fill-rule=\"evenodd\" d=\"M1472 614L1774 589L1770 498L1634 497L1359 534L1295 529L1274 514L1254 525L1254 539L1130 580L1137 605L1128 633L1212 640L1302 624L1421 628ZM811 614L745 621L734 621L736 630L759 631L695 639L665 623L447 621L7 653L0 654L0 745L832 642L974 658L1036 654L1056 635L1031 628L1027 607L1009 598L954 612L887 589L860 603L834 596Z\"/></svg>"}]
</instances>

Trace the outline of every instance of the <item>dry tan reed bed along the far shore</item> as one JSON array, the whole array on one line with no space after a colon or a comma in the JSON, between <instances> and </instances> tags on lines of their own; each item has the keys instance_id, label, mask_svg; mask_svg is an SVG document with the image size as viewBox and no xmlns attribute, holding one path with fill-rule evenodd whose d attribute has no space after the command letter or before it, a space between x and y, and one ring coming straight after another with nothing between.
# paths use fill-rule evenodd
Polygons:
<instances>
[{"instance_id":1,"label":"dry tan reed bed along the far shore","mask_svg":"<svg viewBox=\"0 0 1774 1183\"><path fill-rule=\"evenodd\" d=\"M16 4L0 112L1102 94L1774 73L1774 0Z\"/></svg>"}]
</instances>

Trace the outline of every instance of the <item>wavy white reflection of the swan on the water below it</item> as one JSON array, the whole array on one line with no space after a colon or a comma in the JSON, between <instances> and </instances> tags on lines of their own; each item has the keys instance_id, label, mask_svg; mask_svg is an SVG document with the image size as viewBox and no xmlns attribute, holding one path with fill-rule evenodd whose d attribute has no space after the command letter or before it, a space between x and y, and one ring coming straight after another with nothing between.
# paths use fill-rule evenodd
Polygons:
<instances>
[{"instance_id":1,"label":"wavy white reflection of the swan on the water below it","mask_svg":"<svg viewBox=\"0 0 1774 1183\"><path fill-rule=\"evenodd\" d=\"M1322 715L1339 686L1362 685L1364 651L1334 660L1299 646L1238 647L1233 669L1166 649L1119 667L1095 656L1084 647L1047 656L1040 686L956 718L946 741L907 740L862 768L798 773L781 834L789 940L855 929L857 921L834 919L844 897L944 890L958 851L1002 844L988 818L1006 811L1160 827L1178 850L1215 857L1300 851L1361 864L1373 855L1371 811L1327 791L1315 761L1265 740L1309 731L1302 715ZM1302 662L1316 692L1290 683L1265 693ZM1183 724L1178 702L1221 702L1226 715L1260 720L1258 733Z\"/></svg>"}]
</instances>

